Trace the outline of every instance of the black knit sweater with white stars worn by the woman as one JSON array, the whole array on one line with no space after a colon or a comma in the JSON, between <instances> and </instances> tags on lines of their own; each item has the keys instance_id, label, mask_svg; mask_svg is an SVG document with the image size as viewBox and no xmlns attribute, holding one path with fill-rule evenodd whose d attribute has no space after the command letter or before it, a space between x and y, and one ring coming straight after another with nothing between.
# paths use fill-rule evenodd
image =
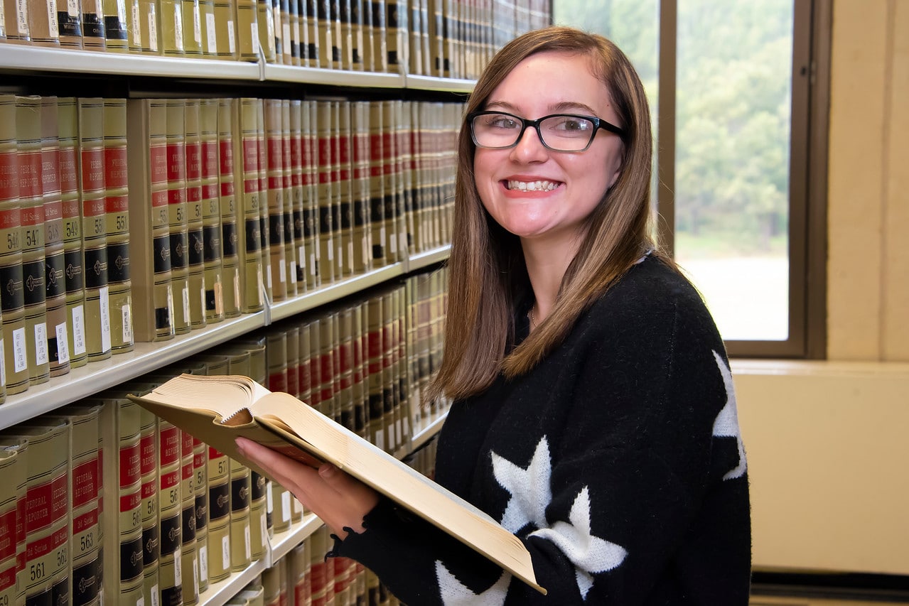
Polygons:
<instances>
[{"instance_id":1,"label":"black knit sweater with white stars worn by the woman","mask_svg":"<svg viewBox=\"0 0 909 606\"><path fill-rule=\"evenodd\" d=\"M435 469L524 541L547 596L387 502L330 555L411 606L748 601L748 480L724 345L694 288L654 258L531 373L454 402Z\"/></svg>"}]
</instances>

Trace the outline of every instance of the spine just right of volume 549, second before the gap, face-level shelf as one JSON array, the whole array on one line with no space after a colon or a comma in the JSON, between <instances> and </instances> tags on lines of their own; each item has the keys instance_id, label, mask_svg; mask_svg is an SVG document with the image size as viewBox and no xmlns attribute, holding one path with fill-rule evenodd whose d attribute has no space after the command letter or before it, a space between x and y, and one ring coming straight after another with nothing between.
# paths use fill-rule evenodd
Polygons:
<instances>
[{"instance_id":1,"label":"spine just right of volume 549, second before the gap, face-level shelf","mask_svg":"<svg viewBox=\"0 0 909 606\"><path fill-rule=\"evenodd\" d=\"M89 362L111 356L110 292L105 227L104 101L80 98L79 161L85 267L85 336Z\"/></svg>"}]
</instances>

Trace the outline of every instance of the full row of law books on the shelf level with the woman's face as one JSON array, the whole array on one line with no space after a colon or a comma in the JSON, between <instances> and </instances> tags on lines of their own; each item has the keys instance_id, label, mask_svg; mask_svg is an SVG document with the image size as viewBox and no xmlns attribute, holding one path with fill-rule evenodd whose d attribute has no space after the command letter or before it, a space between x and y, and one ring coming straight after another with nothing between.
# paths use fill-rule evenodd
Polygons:
<instances>
[{"instance_id":1,"label":"full row of law books on the shelf level with the woman's face","mask_svg":"<svg viewBox=\"0 0 909 606\"><path fill-rule=\"evenodd\" d=\"M461 111L0 95L0 400L444 245Z\"/></svg>"}]
</instances>

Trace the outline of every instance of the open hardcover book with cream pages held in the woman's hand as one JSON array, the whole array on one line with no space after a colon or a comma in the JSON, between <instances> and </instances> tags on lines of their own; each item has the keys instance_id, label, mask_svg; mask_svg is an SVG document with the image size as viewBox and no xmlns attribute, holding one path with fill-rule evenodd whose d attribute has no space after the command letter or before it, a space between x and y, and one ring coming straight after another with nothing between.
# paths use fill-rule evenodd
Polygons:
<instances>
[{"instance_id":1,"label":"open hardcover book with cream pages held in the woman's hand","mask_svg":"<svg viewBox=\"0 0 909 606\"><path fill-rule=\"evenodd\" d=\"M485 512L289 393L238 375L182 374L131 400L267 475L236 450L244 436L297 461L338 469L385 494L502 566L537 591L530 553Z\"/></svg>"}]
</instances>

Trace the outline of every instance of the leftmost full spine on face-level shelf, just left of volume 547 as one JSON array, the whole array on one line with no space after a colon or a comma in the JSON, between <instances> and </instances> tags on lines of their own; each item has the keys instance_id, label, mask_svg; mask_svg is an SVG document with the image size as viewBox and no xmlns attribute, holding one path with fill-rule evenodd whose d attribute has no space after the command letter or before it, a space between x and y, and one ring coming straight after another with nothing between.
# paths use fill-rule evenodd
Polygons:
<instances>
[{"instance_id":1,"label":"leftmost full spine on face-level shelf, just left of volume 547","mask_svg":"<svg viewBox=\"0 0 909 606\"><path fill-rule=\"evenodd\" d=\"M22 207L19 202L19 158L16 154L15 95L0 95L0 277L7 285L0 293L3 317L6 393L28 389L25 350L25 293L22 278Z\"/></svg>"}]
</instances>

